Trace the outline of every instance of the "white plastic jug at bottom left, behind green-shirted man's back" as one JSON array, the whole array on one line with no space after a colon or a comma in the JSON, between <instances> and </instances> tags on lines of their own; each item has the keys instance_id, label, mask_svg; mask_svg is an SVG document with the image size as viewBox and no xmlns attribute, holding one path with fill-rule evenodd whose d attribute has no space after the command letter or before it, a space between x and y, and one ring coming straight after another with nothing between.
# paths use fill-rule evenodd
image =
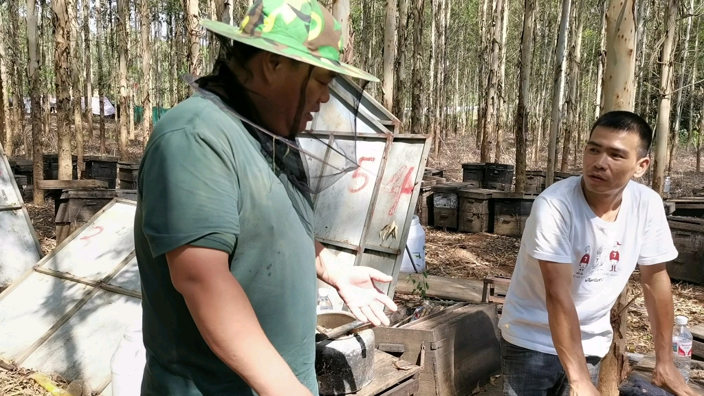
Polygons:
<instances>
[{"instance_id":1,"label":"white plastic jug at bottom left, behind green-shirted man's back","mask_svg":"<svg viewBox=\"0 0 704 396\"><path fill-rule=\"evenodd\" d=\"M110 361L113 396L139 396L146 364L142 315L127 327Z\"/></svg>"}]
</instances>

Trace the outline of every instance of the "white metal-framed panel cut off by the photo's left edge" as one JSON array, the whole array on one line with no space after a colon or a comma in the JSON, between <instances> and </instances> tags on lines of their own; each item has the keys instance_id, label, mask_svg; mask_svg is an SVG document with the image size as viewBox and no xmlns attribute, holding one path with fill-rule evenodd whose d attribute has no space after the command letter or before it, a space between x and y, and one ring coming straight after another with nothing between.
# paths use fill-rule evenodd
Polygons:
<instances>
[{"instance_id":1,"label":"white metal-framed panel cut off by the photo's left edge","mask_svg":"<svg viewBox=\"0 0 704 396\"><path fill-rule=\"evenodd\" d=\"M0 290L42 258L30 215L0 144Z\"/></svg>"}]
</instances>

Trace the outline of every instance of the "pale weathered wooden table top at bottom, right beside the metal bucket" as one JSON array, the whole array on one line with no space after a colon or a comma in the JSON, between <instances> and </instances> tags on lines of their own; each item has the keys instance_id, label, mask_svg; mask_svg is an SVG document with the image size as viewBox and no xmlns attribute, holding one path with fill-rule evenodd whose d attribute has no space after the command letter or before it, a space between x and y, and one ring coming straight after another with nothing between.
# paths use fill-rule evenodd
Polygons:
<instances>
[{"instance_id":1,"label":"pale weathered wooden table top at bottom, right beside the metal bucket","mask_svg":"<svg viewBox=\"0 0 704 396\"><path fill-rule=\"evenodd\" d=\"M359 392L350 395L412 396L418 391L419 375L420 366L377 349L374 352L374 380Z\"/></svg>"}]
</instances>

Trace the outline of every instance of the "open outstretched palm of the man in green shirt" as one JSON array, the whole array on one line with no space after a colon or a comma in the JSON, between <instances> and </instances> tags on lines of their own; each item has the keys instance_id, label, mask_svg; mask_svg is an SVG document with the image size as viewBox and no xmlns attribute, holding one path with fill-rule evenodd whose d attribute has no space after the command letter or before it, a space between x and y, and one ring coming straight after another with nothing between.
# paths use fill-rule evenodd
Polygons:
<instances>
[{"instance_id":1,"label":"open outstretched palm of the man in green shirt","mask_svg":"<svg viewBox=\"0 0 704 396\"><path fill-rule=\"evenodd\" d=\"M335 287L358 320L371 322L374 326L388 326L389 318L384 314L384 307L390 311L396 311L398 307L374 283L389 283L393 279L374 268L353 266L336 274Z\"/></svg>"}]
</instances>

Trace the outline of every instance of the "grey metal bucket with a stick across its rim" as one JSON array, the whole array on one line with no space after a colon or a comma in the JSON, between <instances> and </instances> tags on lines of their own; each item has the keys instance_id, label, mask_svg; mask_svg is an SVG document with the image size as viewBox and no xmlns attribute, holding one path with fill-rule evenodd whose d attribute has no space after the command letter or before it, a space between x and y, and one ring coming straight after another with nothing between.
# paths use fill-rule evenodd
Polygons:
<instances>
[{"instance_id":1,"label":"grey metal bucket with a stick across its rim","mask_svg":"<svg viewBox=\"0 0 704 396\"><path fill-rule=\"evenodd\" d=\"M336 328L356 318L346 311L318 314L318 326ZM315 373L320 395L358 392L374 379L375 338L372 329L315 344Z\"/></svg>"}]
</instances>

